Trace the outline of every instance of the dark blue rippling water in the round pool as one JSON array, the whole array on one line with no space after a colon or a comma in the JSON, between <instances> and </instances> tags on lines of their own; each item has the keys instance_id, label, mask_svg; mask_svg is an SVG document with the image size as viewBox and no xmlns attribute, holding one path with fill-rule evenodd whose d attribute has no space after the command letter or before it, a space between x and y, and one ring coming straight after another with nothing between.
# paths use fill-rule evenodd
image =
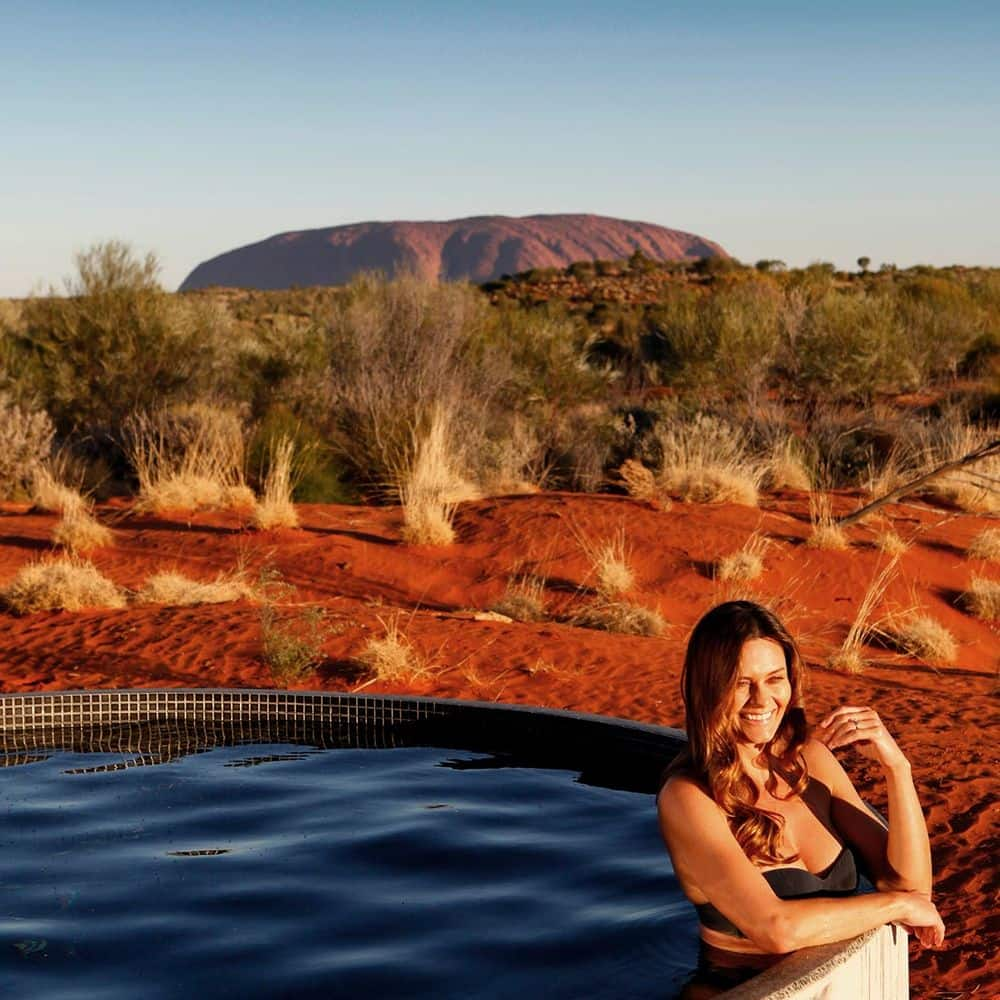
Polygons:
<instances>
[{"instance_id":1,"label":"dark blue rippling water in the round pool","mask_svg":"<svg viewBox=\"0 0 1000 1000\"><path fill-rule=\"evenodd\" d=\"M0 996L671 997L651 795L427 748L0 768Z\"/></svg>"}]
</instances>

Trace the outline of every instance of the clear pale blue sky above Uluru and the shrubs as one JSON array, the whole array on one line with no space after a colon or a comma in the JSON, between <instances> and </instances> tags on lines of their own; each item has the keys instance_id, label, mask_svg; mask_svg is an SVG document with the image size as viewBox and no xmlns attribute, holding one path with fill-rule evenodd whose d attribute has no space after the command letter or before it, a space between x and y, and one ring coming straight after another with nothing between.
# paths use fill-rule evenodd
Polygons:
<instances>
[{"instance_id":1,"label":"clear pale blue sky above Uluru and the shrubs","mask_svg":"<svg viewBox=\"0 0 1000 1000\"><path fill-rule=\"evenodd\" d=\"M0 295L108 238L595 212L1000 266L1000 3L0 0Z\"/></svg>"}]
</instances>

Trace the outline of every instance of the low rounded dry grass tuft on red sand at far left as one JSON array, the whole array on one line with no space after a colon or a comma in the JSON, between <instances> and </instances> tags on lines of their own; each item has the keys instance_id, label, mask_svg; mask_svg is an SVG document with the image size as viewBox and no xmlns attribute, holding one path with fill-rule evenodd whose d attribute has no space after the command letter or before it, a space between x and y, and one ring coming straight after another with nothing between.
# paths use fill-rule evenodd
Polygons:
<instances>
[{"instance_id":1,"label":"low rounded dry grass tuft on red sand at far left","mask_svg":"<svg viewBox=\"0 0 1000 1000\"><path fill-rule=\"evenodd\" d=\"M93 563L76 556L22 566L0 591L0 602L19 614L125 607L122 592Z\"/></svg>"}]
</instances>

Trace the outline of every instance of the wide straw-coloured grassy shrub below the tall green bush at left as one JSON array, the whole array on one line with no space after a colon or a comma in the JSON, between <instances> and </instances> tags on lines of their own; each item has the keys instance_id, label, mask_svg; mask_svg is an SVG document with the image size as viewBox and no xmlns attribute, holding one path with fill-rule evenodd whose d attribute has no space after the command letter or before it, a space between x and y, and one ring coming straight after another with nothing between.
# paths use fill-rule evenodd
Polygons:
<instances>
[{"instance_id":1,"label":"wide straw-coloured grassy shrub below the tall green bush at left","mask_svg":"<svg viewBox=\"0 0 1000 1000\"><path fill-rule=\"evenodd\" d=\"M132 414L126 450L150 510L252 507L239 416L208 404Z\"/></svg>"}]
</instances>

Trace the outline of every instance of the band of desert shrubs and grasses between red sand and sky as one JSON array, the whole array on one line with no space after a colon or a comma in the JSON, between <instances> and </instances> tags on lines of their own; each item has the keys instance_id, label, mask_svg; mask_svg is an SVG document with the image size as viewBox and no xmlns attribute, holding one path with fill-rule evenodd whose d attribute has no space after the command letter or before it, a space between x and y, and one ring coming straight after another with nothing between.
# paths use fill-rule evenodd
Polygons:
<instances>
[{"instance_id":1,"label":"band of desert shrubs and grasses between red sand and sky","mask_svg":"<svg viewBox=\"0 0 1000 1000\"><path fill-rule=\"evenodd\" d=\"M483 290L365 276L172 295L116 241L76 265L62 294L0 312L8 498L57 447L104 495L249 506L247 478L267 487L248 449L292 429L311 445L293 500L395 499L419 471L419 507L450 427L447 475L480 492L753 505L818 481L877 490L1000 435L992 270L643 260ZM993 510L997 462L923 492ZM431 492L444 537L448 491Z\"/></svg>"}]
</instances>

